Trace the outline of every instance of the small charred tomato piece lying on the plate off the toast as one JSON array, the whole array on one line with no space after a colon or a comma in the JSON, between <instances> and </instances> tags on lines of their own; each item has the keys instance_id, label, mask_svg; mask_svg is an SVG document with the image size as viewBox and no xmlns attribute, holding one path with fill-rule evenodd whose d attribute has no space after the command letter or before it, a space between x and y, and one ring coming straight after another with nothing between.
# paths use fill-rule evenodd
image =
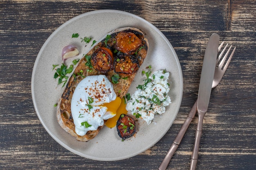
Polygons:
<instances>
[{"instance_id":1,"label":"small charred tomato piece lying on the plate off the toast","mask_svg":"<svg viewBox=\"0 0 256 170\"><path fill-rule=\"evenodd\" d=\"M117 133L122 140L132 137L136 132L135 120L128 115L120 115L117 120Z\"/></svg>"}]
</instances>

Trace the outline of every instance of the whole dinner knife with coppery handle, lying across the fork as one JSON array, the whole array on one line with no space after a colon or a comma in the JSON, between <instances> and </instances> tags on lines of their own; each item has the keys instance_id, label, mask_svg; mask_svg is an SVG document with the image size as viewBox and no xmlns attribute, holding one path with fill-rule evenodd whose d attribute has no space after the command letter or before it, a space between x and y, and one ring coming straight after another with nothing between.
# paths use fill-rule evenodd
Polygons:
<instances>
[{"instance_id":1,"label":"whole dinner knife with coppery handle, lying across the fork","mask_svg":"<svg viewBox=\"0 0 256 170\"><path fill-rule=\"evenodd\" d=\"M198 161L198 150L200 145L200 138L202 135L202 124L211 96L211 86L216 66L219 40L220 37L218 34L214 33L211 35L204 53L204 61L198 90L198 124L195 131L195 144L191 155L190 170L195 170Z\"/></svg>"}]
</instances>

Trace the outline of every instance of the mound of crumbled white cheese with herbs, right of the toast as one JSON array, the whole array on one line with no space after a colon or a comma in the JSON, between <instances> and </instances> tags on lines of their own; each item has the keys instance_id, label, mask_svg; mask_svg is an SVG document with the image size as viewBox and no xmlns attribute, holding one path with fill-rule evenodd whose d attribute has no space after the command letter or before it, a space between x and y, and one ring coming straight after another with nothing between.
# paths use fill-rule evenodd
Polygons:
<instances>
[{"instance_id":1,"label":"mound of crumbled white cheese with herbs, right of the toast","mask_svg":"<svg viewBox=\"0 0 256 170\"><path fill-rule=\"evenodd\" d=\"M164 113L165 107L171 104L171 98L168 95L170 91L168 78L169 73L163 70L149 75L147 83L135 91L127 102L126 110L150 124L156 114Z\"/></svg>"}]
</instances>

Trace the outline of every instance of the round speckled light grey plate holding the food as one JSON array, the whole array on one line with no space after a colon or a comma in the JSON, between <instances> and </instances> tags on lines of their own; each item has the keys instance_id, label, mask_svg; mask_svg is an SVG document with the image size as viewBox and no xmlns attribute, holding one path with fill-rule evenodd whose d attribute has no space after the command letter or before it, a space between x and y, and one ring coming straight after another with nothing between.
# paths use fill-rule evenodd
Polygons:
<instances>
[{"instance_id":1,"label":"round speckled light grey plate holding the food","mask_svg":"<svg viewBox=\"0 0 256 170\"><path fill-rule=\"evenodd\" d=\"M141 71L151 65L152 71L166 69L170 72L170 96L172 103L167 106L166 113L157 115L150 125L139 120L135 137L121 141L116 128L106 126L99 135L88 142L76 141L75 137L65 132L57 122L56 107L64 88L57 85L54 79L52 64L61 64L61 52L64 46L74 44L82 57L91 46L91 42L85 47L80 38L71 38L73 33L79 33L80 37L91 37L92 40L100 40L108 32L121 27L136 27L146 34L149 42L149 51L146 60L139 69L135 81L130 87L129 93L133 94L138 84L143 84ZM71 61L67 61L71 62ZM183 81L182 70L178 57L167 38L148 21L117 10L99 10L81 14L61 25L46 40L40 49L31 79L31 91L34 107L38 118L47 132L63 147L77 155L100 161L115 161L126 159L144 152L157 143L168 131L179 111Z\"/></svg>"}]
</instances>

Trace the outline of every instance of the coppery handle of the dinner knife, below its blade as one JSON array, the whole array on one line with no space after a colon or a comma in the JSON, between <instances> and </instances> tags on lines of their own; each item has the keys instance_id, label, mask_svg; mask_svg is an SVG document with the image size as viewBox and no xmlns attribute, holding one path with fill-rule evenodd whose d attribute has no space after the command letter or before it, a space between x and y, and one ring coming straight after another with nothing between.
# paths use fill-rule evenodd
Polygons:
<instances>
[{"instance_id":1,"label":"coppery handle of the dinner knife, below its blade","mask_svg":"<svg viewBox=\"0 0 256 170\"><path fill-rule=\"evenodd\" d=\"M202 135L203 119L206 112L198 110L198 125L195 130L195 144L191 155L190 170L195 170L198 161L198 152L200 146L200 139Z\"/></svg>"}]
</instances>

